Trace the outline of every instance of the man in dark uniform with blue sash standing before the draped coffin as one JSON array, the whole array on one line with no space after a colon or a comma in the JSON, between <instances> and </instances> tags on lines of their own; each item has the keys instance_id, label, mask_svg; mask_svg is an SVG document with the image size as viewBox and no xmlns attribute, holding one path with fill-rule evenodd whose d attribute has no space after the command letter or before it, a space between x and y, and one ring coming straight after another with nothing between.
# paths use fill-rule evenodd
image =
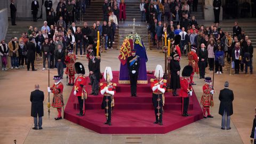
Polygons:
<instances>
[{"instance_id":1,"label":"man in dark uniform with blue sash standing before the draped coffin","mask_svg":"<svg viewBox=\"0 0 256 144\"><path fill-rule=\"evenodd\" d=\"M136 50L131 50L130 57L127 58L127 67L129 69L129 77L131 84L131 95L136 97L137 95L137 79L140 68L140 57L136 55Z\"/></svg>"}]
</instances>

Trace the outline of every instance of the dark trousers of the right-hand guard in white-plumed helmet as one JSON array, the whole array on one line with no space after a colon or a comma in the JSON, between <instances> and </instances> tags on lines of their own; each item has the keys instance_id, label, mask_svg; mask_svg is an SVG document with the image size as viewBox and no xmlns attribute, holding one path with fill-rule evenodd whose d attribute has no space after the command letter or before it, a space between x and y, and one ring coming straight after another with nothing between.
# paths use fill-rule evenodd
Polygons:
<instances>
[{"instance_id":1,"label":"dark trousers of the right-hand guard in white-plumed helmet","mask_svg":"<svg viewBox=\"0 0 256 144\"><path fill-rule=\"evenodd\" d=\"M158 96L159 96L159 105L158 105ZM163 122L163 94L154 94L153 93L153 98L152 98L152 101L153 101L153 106L155 108L155 117L156 117L156 122ZM159 106L159 118L158 118L158 109L157 107Z\"/></svg>"}]
</instances>

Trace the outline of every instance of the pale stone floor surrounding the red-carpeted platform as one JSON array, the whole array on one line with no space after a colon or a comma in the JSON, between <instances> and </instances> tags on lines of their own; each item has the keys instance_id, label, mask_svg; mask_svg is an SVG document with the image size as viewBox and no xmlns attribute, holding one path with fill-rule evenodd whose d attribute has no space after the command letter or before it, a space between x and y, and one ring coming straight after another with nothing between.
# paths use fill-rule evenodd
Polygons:
<instances>
[{"instance_id":1,"label":"pale stone floor surrounding the red-carpeted platform","mask_svg":"<svg viewBox=\"0 0 256 144\"><path fill-rule=\"evenodd\" d=\"M17 22L19 23L19 22ZM106 66L113 70L119 70L120 62L117 50L102 53L101 72ZM163 53L152 50L147 51L147 69L154 70L157 64L164 66ZM254 55L256 52L254 52ZM79 58L85 68L87 61ZM255 61L255 58L254 58ZM187 65L186 57L182 57L181 67ZM255 63L254 63L255 67ZM26 69L13 69L0 71L0 143L250 143L250 132L254 116L256 98L255 89L256 75L233 75L224 68L222 75L214 78L214 104L211 109L214 118L202 119L195 123L181 127L167 134L99 134L85 129L82 126L71 123L66 119L54 121L57 110L51 108L50 116L47 114L48 73L42 71L42 65L37 65L38 71L27 71ZM86 74L89 71L86 70ZM256 71L254 70L254 73ZM57 74L57 69L50 70L50 78ZM212 77L212 71L206 70L206 76ZM221 130L221 116L219 109L219 91L223 89L223 83L229 81L230 89L234 91L235 100L234 115L231 116L231 130ZM195 75L194 86L198 100L201 99L202 79ZM50 84L53 81L50 80ZM66 85L66 79L63 79ZM43 130L32 130L33 118L30 117L30 92L34 90L34 84L39 84L45 93ZM65 86L63 95L65 103L71 91L70 86ZM98 97L101 97L100 95ZM52 94L50 95L50 101ZM103 114L103 112L102 112Z\"/></svg>"}]
</instances>

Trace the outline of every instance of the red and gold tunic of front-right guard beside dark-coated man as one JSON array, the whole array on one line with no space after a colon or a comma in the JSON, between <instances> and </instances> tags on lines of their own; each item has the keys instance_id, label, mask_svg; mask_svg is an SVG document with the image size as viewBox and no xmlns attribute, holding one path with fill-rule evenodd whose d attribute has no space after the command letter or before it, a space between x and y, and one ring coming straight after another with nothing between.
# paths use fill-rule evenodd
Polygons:
<instances>
[{"instance_id":1,"label":"red and gold tunic of front-right guard beside dark-coated man","mask_svg":"<svg viewBox=\"0 0 256 144\"><path fill-rule=\"evenodd\" d=\"M203 95L201 98L201 105L202 106L210 106L211 105L211 100L212 100L212 95L210 94L212 90L212 86L209 84L204 84L203 86Z\"/></svg>"}]
</instances>

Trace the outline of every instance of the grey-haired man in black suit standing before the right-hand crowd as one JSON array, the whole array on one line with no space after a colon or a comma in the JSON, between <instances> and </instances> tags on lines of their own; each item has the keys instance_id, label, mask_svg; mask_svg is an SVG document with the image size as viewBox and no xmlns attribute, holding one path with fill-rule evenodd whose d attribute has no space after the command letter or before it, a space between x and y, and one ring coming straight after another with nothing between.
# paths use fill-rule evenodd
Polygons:
<instances>
[{"instance_id":1,"label":"grey-haired man in black suit standing before the right-hand crowd","mask_svg":"<svg viewBox=\"0 0 256 144\"><path fill-rule=\"evenodd\" d=\"M205 48L204 43L201 44L201 49L198 50L198 57L199 57L199 75L200 79L204 78L205 75L205 67L207 66L207 59L208 59L208 51Z\"/></svg>"}]
</instances>

